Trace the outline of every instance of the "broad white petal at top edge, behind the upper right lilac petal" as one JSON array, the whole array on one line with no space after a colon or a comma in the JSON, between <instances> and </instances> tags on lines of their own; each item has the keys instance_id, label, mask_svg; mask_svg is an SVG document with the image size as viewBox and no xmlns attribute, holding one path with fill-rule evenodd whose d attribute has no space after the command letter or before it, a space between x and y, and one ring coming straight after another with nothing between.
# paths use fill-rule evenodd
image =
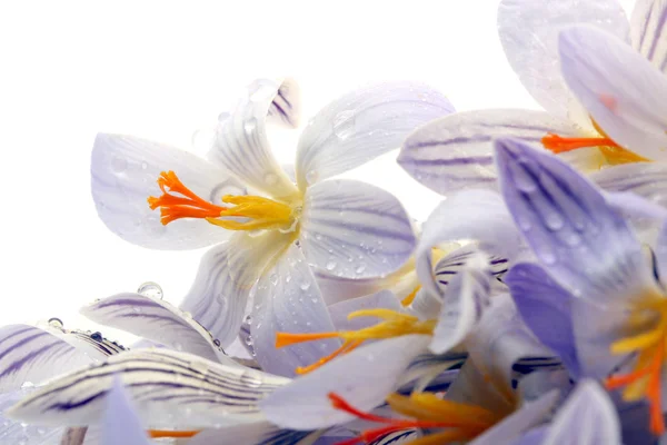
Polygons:
<instances>
[{"instance_id":1,"label":"broad white petal at top edge, behind the upper right lilac petal","mask_svg":"<svg viewBox=\"0 0 667 445\"><path fill-rule=\"evenodd\" d=\"M558 31L590 23L628 40L628 19L617 0L502 0L498 33L509 65L524 87L551 115L590 127L558 69Z\"/></svg>"}]
</instances>

